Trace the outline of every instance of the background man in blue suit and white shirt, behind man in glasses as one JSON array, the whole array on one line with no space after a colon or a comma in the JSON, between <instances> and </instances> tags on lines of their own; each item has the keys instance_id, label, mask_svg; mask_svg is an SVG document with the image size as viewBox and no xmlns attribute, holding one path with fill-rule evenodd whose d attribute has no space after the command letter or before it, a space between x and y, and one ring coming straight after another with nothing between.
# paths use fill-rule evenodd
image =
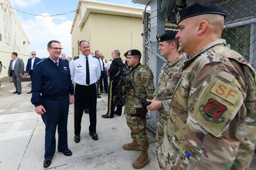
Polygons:
<instances>
[{"instance_id":1,"label":"background man in blue suit and white shirt, behind man in glasses","mask_svg":"<svg viewBox=\"0 0 256 170\"><path fill-rule=\"evenodd\" d=\"M36 68L36 64L40 62L40 59L36 57L36 52L31 52L31 58L27 60L27 66L26 66L26 76L30 75L30 79L32 81L34 68ZM27 92L27 94L32 93L32 90L30 92Z\"/></svg>"}]
</instances>

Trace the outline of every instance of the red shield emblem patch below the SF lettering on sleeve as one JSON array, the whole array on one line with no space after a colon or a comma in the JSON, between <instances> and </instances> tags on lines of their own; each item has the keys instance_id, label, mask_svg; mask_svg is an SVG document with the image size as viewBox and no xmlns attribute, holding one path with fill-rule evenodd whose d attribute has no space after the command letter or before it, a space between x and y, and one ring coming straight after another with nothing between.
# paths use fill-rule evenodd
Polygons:
<instances>
[{"instance_id":1,"label":"red shield emblem patch below the SF lettering on sleeve","mask_svg":"<svg viewBox=\"0 0 256 170\"><path fill-rule=\"evenodd\" d=\"M208 121L220 123L224 121L222 114L227 110L227 107L212 98L208 100L206 105L200 106L200 113Z\"/></svg>"}]
</instances>

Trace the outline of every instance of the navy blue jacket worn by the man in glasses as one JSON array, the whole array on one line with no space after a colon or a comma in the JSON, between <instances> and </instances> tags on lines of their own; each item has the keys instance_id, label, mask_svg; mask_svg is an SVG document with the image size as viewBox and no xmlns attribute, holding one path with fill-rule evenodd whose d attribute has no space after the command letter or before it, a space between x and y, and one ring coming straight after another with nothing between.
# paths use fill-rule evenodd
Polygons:
<instances>
[{"instance_id":1,"label":"navy blue jacket worn by the man in glasses","mask_svg":"<svg viewBox=\"0 0 256 170\"><path fill-rule=\"evenodd\" d=\"M74 94L74 85L68 63L59 59L55 65L49 58L37 63L32 80L31 103L34 106L42 105L42 98L65 98Z\"/></svg>"}]
</instances>

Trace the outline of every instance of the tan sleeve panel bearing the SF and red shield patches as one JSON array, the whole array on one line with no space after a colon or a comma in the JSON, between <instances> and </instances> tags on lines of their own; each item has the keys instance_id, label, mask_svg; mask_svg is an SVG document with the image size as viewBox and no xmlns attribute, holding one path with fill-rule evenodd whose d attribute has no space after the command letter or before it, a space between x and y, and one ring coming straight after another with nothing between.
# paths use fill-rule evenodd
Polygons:
<instances>
[{"instance_id":1,"label":"tan sleeve panel bearing the SF and red shield patches","mask_svg":"<svg viewBox=\"0 0 256 170\"><path fill-rule=\"evenodd\" d=\"M241 108L242 92L219 76L212 76L208 82L204 82L200 91L197 101L190 99L193 108L188 114L208 133L219 137Z\"/></svg>"}]
</instances>

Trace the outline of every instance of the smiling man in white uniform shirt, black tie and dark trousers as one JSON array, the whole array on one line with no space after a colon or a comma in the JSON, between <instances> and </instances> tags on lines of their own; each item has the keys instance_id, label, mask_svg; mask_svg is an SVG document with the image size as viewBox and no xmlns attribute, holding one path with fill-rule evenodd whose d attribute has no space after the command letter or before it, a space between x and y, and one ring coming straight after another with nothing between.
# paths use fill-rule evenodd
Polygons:
<instances>
[{"instance_id":1,"label":"smiling man in white uniform shirt, black tie and dark trousers","mask_svg":"<svg viewBox=\"0 0 256 170\"><path fill-rule=\"evenodd\" d=\"M81 119L86 103L90 117L89 134L93 140L98 140L96 133L96 82L101 74L99 60L90 54L90 43L83 40L80 41L79 46L82 54L74 57L69 64L71 80L75 84L75 143L80 142Z\"/></svg>"}]
</instances>

